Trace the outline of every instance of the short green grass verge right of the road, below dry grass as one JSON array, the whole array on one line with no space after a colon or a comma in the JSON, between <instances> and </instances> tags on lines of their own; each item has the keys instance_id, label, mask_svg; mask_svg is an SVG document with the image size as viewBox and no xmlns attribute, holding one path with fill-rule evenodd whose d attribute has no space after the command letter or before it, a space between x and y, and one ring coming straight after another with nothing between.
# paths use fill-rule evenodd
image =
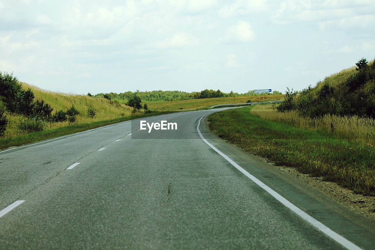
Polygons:
<instances>
[{"instance_id":1,"label":"short green grass verge right of the road, below dry grass","mask_svg":"<svg viewBox=\"0 0 375 250\"><path fill-rule=\"evenodd\" d=\"M265 120L251 114L251 108L211 114L210 128L222 139L276 165L323 176L357 193L375 194L374 148Z\"/></svg>"}]
</instances>

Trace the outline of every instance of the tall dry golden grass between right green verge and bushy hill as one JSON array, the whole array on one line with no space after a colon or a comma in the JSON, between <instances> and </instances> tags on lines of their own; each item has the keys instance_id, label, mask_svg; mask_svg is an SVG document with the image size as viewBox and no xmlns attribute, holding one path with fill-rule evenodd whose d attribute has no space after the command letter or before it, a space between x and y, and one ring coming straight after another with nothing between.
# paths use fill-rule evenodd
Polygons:
<instances>
[{"instance_id":1,"label":"tall dry golden grass between right green verge and bushy hill","mask_svg":"<svg viewBox=\"0 0 375 250\"><path fill-rule=\"evenodd\" d=\"M297 128L320 130L337 138L375 145L375 120L371 118L325 115L312 119L300 116L297 111L278 112L273 105L256 105L250 112L263 119L288 123Z\"/></svg>"}]
</instances>

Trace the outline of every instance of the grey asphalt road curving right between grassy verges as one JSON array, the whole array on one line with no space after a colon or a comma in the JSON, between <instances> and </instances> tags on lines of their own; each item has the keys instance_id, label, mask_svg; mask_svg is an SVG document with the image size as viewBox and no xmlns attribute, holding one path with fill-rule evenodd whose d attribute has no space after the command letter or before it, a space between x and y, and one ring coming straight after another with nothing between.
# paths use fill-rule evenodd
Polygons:
<instances>
[{"instance_id":1,"label":"grey asphalt road curving right between grassy verges","mask_svg":"<svg viewBox=\"0 0 375 250\"><path fill-rule=\"evenodd\" d=\"M212 111L1 151L0 248L373 249L372 221L217 139L205 117L203 140Z\"/></svg>"}]
</instances>

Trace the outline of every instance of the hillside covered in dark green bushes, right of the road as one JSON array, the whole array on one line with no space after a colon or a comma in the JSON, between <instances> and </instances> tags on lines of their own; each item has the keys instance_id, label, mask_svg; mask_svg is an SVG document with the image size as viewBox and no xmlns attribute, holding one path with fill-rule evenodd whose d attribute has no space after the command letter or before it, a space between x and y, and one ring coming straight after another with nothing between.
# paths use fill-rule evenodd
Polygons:
<instances>
[{"instance_id":1,"label":"hillside covered in dark green bushes, right of the road","mask_svg":"<svg viewBox=\"0 0 375 250\"><path fill-rule=\"evenodd\" d=\"M362 58L356 65L357 70L326 77L316 87L302 90L295 98L296 110L310 117L336 114L375 118L374 62L368 66Z\"/></svg>"}]
</instances>

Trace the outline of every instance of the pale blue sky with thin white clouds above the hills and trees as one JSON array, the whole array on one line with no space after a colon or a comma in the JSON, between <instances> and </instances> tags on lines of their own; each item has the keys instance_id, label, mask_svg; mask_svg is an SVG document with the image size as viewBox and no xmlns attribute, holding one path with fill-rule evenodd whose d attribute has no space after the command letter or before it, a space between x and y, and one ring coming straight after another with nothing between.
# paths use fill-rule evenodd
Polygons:
<instances>
[{"instance_id":1,"label":"pale blue sky with thin white clouds above the hills and trees","mask_svg":"<svg viewBox=\"0 0 375 250\"><path fill-rule=\"evenodd\" d=\"M375 56L374 0L0 0L0 71L42 89L302 90Z\"/></svg>"}]
</instances>

